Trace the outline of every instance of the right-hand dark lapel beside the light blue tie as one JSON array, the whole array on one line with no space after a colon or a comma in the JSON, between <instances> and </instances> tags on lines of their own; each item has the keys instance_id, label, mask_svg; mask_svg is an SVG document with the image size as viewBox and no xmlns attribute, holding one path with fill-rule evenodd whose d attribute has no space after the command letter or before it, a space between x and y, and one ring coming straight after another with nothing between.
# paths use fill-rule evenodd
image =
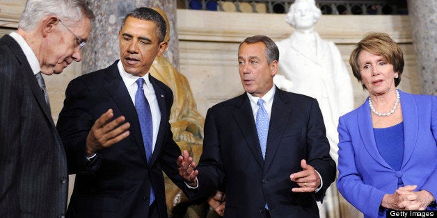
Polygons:
<instances>
[{"instance_id":1,"label":"right-hand dark lapel beside the light blue tie","mask_svg":"<svg viewBox=\"0 0 437 218\"><path fill-rule=\"evenodd\" d=\"M269 166L276 155L276 151L278 151L278 146L283 138L289 117L291 117L293 111L290 106L287 106L289 100L282 98L282 92L282 90L276 87L275 96L273 97L273 106L271 108L264 171L269 169Z\"/></svg>"}]
</instances>

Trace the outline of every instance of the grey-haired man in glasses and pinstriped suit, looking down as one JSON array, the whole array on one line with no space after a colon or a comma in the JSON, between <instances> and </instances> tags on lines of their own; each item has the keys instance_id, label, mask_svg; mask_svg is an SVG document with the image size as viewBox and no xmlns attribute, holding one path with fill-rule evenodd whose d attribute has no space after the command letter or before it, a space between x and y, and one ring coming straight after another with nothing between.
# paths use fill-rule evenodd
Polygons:
<instances>
[{"instance_id":1,"label":"grey-haired man in glasses and pinstriped suit, looking down","mask_svg":"<svg viewBox=\"0 0 437 218\"><path fill-rule=\"evenodd\" d=\"M41 73L81 60L93 18L83 1L29 0L0 39L0 217L65 215L67 160Z\"/></svg>"}]
</instances>

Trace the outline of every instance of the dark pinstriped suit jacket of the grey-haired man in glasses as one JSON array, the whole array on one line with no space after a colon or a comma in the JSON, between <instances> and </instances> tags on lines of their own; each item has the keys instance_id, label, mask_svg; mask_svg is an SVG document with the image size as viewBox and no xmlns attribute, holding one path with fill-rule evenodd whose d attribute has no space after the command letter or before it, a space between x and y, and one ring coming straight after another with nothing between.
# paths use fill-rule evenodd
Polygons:
<instances>
[{"instance_id":1,"label":"dark pinstriped suit jacket of the grey-haired man in glasses","mask_svg":"<svg viewBox=\"0 0 437 218\"><path fill-rule=\"evenodd\" d=\"M0 217L58 217L67 161L49 107L19 44L0 39Z\"/></svg>"}]
</instances>

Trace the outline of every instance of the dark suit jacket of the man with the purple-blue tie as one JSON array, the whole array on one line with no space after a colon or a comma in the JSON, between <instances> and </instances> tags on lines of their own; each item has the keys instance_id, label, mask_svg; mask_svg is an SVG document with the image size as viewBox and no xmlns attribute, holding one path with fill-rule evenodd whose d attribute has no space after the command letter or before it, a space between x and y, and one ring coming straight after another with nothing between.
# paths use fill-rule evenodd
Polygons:
<instances>
[{"instance_id":1,"label":"dark suit jacket of the man with the purple-blue tie","mask_svg":"<svg viewBox=\"0 0 437 218\"><path fill-rule=\"evenodd\" d=\"M161 110L161 124L152 158L145 158L138 116L117 62L106 69L75 78L67 87L58 131L65 144L68 171L76 174L68 207L70 217L148 217L150 185L153 185L159 215L167 217L164 176L186 188L176 165L181 151L173 141L168 118L173 93L149 76ZM86 137L106 110L131 124L125 140L103 149L92 164L86 161Z\"/></svg>"}]
</instances>

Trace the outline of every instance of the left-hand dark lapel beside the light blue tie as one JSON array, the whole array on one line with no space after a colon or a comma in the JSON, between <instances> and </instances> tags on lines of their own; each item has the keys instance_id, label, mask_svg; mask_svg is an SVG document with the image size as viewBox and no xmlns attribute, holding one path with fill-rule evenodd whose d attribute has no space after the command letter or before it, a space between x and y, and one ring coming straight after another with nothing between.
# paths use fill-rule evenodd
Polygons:
<instances>
[{"instance_id":1,"label":"left-hand dark lapel beside the light blue tie","mask_svg":"<svg viewBox=\"0 0 437 218\"><path fill-rule=\"evenodd\" d=\"M255 120L253 119L253 112L251 102L249 101L246 92L238 98L238 102L235 105L236 110L232 113L237 125L243 134L246 144L249 146L252 155L255 157L260 168L264 165L262 160L260 141L255 127Z\"/></svg>"}]
</instances>

